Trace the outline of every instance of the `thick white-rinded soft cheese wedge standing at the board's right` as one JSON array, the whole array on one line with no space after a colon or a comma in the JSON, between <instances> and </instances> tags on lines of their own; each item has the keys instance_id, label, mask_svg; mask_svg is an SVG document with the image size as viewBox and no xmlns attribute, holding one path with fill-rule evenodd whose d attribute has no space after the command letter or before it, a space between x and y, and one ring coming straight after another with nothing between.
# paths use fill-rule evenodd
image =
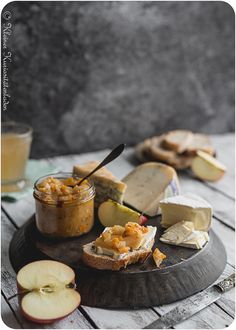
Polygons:
<instances>
[{"instance_id":1,"label":"thick white-rinded soft cheese wedge standing at the board's right","mask_svg":"<svg viewBox=\"0 0 236 330\"><path fill-rule=\"evenodd\" d=\"M165 198L160 201L160 208L164 228L182 220L193 222L195 230L208 231L211 226L211 205L194 194Z\"/></svg>"}]
</instances>

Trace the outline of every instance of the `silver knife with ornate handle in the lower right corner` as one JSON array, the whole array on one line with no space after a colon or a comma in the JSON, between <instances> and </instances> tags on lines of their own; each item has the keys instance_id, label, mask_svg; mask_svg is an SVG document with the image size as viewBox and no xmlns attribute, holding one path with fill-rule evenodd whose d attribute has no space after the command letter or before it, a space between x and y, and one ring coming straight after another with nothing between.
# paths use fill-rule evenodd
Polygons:
<instances>
[{"instance_id":1,"label":"silver knife with ornate handle in the lower right corner","mask_svg":"<svg viewBox=\"0 0 236 330\"><path fill-rule=\"evenodd\" d=\"M144 329L169 329L217 301L224 292L234 286L235 274L233 273L210 288L184 299L180 305L150 323Z\"/></svg>"}]
</instances>

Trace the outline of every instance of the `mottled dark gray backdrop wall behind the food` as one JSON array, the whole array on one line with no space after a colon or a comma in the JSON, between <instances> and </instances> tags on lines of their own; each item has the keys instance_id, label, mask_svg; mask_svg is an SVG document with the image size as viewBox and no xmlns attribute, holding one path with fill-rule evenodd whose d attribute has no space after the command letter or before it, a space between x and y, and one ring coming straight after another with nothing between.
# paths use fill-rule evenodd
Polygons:
<instances>
[{"instance_id":1,"label":"mottled dark gray backdrop wall behind the food","mask_svg":"<svg viewBox=\"0 0 236 330\"><path fill-rule=\"evenodd\" d=\"M13 2L11 102L32 157L234 130L234 12L224 2Z\"/></svg>"}]
</instances>

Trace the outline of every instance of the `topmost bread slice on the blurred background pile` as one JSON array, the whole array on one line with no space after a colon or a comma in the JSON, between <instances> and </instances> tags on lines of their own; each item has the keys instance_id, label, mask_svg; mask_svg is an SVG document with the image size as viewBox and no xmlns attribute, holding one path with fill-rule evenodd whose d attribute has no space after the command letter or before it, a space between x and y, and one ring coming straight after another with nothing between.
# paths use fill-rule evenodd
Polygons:
<instances>
[{"instance_id":1,"label":"topmost bread slice on the blurred background pile","mask_svg":"<svg viewBox=\"0 0 236 330\"><path fill-rule=\"evenodd\" d=\"M177 153L183 153L192 143L194 135L191 131L176 130L168 132L163 139L163 147Z\"/></svg>"}]
</instances>

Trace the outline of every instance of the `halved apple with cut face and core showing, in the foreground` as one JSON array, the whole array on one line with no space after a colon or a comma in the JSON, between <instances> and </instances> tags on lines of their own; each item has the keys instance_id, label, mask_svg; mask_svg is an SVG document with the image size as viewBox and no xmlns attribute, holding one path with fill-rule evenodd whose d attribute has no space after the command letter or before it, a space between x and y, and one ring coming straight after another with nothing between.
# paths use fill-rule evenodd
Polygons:
<instances>
[{"instance_id":1,"label":"halved apple with cut face and core showing, in the foreground","mask_svg":"<svg viewBox=\"0 0 236 330\"><path fill-rule=\"evenodd\" d=\"M75 273L53 260L32 262L18 272L17 287L22 314L36 323L52 323L71 314L80 304Z\"/></svg>"}]
</instances>

